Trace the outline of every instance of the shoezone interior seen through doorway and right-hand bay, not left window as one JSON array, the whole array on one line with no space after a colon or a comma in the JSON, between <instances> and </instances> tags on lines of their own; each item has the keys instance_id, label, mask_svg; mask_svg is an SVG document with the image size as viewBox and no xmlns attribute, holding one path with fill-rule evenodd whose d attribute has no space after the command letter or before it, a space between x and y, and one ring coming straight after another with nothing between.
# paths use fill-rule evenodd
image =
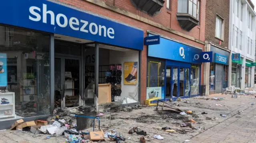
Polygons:
<instances>
[{"instance_id":1,"label":"shoezone interior seen through doorway and right-hand bay, not left window","mask_svg":"<svg viewBox=\"0 0 256 143\"><path fill-rule=\"evenodd\" d=\"M95 43L54 36L55 107L94 105ZM99 104L123 100L121 104L138 102L138 62L139 51L99 45Z\"/></svg>"}]
</instances>

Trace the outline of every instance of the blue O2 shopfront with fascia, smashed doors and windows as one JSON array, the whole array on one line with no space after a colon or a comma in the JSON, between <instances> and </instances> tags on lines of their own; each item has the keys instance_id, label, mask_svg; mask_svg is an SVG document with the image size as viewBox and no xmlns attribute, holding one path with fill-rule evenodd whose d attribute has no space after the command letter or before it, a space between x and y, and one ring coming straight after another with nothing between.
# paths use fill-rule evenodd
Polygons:
<instances>
[{"instance_id":1,"label":"blue O2 shopfront with fascia, smashed doors and windows","mask_svg":"<svg viewBox=\"0 0 256 143\"><path fill-rule=\"evenodd\" d=\"M200 95L201 53L201 49L162 37L160 44L149 45L146 99Z\"/></svg>"}]
</instances>

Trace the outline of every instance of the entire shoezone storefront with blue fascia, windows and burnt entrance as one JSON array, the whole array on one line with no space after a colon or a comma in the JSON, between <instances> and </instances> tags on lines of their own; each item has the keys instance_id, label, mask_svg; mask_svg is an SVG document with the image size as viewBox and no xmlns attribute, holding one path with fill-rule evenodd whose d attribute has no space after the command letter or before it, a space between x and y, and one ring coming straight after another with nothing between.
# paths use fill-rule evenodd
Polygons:
<instances>
[{"instance_id":1,"label":"entire shoezone storefront with blue fascia, windows and burnt entrance","mask_svg":"<svg viewBox=\"0 0 256 143\"><path fill-rule=\"evenodd\" d=\"M142 30L54 0L3 1L0 12L1 129L56 107L140 101Z\"/></svg>"}]
</instances>

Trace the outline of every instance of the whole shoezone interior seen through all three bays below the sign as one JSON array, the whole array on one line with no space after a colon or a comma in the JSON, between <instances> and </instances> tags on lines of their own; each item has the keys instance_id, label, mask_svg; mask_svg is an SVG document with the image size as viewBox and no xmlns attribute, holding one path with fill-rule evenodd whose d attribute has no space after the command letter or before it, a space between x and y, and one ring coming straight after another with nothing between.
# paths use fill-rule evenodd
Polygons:
<instances>
[{"instance_id":1,"label":"whole shoezone interior seen through all three bays below the sign","mask_svg":"<svg viewBox=\"0 0 256 143\"><path fill-rule=\"evenodd\" d=\"M94 104L92 42L54 34L55 107ZM50 115L50 34L0 25L0 48L0 121ZM100 104L138 102L139 51L100 44L99 69Z\"/></svg>"}]
</instances>

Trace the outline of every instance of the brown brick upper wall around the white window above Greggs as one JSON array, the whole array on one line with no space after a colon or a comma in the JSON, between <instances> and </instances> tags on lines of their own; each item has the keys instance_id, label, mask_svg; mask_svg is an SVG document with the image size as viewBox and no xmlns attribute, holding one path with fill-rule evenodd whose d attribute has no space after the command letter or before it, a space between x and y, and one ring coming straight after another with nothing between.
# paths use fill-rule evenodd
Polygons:
<instances>
[{"instance_id":1,"label":"brown brick upper wall around the white window above Greggs","mask_svg":"<svg viewBox=\"0 0 256 143\"><path fill-rule=\"evenodd\" d=\"M221 46L228 47L229 0L207 0L206 3L205 39L218 44L220 40L215 38L216 14L224 19L224 40Z\"/></svg>"}]
</instances>

